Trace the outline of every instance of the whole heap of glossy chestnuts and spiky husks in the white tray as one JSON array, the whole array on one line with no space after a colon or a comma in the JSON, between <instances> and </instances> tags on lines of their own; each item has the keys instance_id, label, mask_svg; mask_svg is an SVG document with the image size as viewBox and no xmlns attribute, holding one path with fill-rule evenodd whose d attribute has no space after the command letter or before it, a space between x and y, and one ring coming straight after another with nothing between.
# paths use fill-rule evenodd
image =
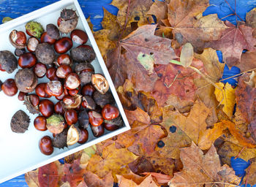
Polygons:
<instances>
[{"instance_id":1,"label":"whole heap of glossy chestnuts and spiky husks in the white tray","mask_svg":"<svg viewBox=\"0 0 256 187\"><path fill-rule=\"evenodd\" d=\"M39 140L39 149L45 155L53 153L53 147L85 143L88 129L94 137L100 137L105 129L114 131L123 126L108 81L94 72L91 61L96 55L86 45L88 36L76 29L78 15L72 9L63 9L56 21L57 26L50 23L46 31L35 21L26 23L27 35L11 31L15 55L0 51L1 71L12 73L18 68L14 79L0 81L0 91L7 96L19 91L18 99L31 114L38 115L34 128L53 134ZM45 76L48 81L44 83ZM12 117L11 129L23 133L29 122L29 115L19 110Z\"/></svg>"}]
</instances>

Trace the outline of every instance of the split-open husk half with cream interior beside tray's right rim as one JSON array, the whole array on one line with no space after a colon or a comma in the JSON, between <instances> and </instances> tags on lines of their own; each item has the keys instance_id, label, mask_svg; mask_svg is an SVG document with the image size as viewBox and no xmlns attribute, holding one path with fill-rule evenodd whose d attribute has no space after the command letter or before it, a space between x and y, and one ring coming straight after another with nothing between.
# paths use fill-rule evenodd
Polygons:
<instances>
[{"instance_id":1,"label":"split-open husk half with cream interior beside tray's right rim","mask_svg":"<svg viewBox=\"0 0 256 187\"><path fill-rule=\"evenodd\" d=\"M91 83L92 85L94 85L94 88L96 88L97 91L99 91L102 94L107 93L109 89L108 81L102 75L91 75Z\"/></svg>"}]
</instances>

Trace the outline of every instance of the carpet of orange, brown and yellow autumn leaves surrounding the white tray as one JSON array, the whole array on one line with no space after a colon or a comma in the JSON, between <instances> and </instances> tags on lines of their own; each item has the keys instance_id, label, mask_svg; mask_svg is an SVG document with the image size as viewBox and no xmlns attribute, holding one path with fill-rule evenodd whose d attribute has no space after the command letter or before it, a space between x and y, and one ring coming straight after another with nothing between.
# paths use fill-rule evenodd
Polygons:
<instances>
[{"instance_id":1,"label":"carpet of orange, brown and yellow autumn leaves surrounding the white tray","mask_svg":"<svg viewBox=\"0 0 256 187\"><path fill-rule=\"evenodd\" d=\"M94 37L131 130L26 173L29 186L255 185L256 9L229 2L223 15L208 0L113 0Z\"/></svg>"}]
</instances>

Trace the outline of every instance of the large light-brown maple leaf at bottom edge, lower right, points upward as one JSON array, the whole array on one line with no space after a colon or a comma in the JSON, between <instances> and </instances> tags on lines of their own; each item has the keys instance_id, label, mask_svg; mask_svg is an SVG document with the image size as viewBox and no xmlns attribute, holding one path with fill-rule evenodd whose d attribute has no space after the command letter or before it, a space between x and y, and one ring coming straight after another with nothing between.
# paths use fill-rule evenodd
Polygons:
<instances>
[{"instance_id":1,"label":"large light-brown maple leaf at bottom edge, lower right, points upward","mask_svg":"<svg viewBox=\"0 0 256 187\"><path fill-rule=\"evenodd\" d=\"M235 178L234 173L231 174L231 181L228 181L230 177L227 178L230 174L223 174L223 168L220 166L219 156L214 145L204 155L203 151L192 142L189 148L181 148L181 161L184 168L181 172L174 174L168 183L170 187L181 185L213 186L214 183L217 183L218 186L225 186L222 182L230 183L230 185L238 185L239 183L238 177L236 177L237 180L233 180Z\"/></svg>"}]
</instances>

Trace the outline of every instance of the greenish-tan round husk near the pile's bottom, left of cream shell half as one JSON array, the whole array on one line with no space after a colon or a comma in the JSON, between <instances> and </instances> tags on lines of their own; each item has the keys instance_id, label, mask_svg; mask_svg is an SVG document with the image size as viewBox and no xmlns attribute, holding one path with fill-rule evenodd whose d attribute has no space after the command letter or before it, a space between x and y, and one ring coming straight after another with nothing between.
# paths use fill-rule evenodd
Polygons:
<instances>
[{"instance_id":1,"label":"greenish-tan round husk near the pile's bottom, left of cream shell half","mask_svg":"<svg viewBox=\"0 0 256 187\"><path fill-rule=\"evenodd\" d=\"M46 127L51 133L59 134L63 131L65 120L62 115L53 114L46 121Z\"/></svg>"}]
</instances>

